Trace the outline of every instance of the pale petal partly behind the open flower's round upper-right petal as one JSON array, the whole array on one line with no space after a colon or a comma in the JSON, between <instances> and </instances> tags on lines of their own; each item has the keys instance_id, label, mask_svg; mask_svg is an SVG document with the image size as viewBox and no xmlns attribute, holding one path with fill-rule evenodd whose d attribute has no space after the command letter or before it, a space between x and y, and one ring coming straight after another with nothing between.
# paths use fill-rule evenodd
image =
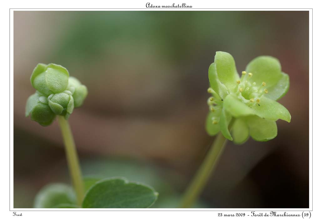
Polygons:
<instances>
[{"instance_id":1,"label":"pale petal partly behind the open flower's round upper-right petal","mask_svg":"<svg viewBox=\"0 0 322 219\"><path fill-rule=\"evenodd\" d=\"M269 92L265 94L265 97L272 100L279 100L282 98L287 91L289 91L289 75L282 72L282 78L275 84L275 86L270 87Z\"/></svg>"}]
</instances>

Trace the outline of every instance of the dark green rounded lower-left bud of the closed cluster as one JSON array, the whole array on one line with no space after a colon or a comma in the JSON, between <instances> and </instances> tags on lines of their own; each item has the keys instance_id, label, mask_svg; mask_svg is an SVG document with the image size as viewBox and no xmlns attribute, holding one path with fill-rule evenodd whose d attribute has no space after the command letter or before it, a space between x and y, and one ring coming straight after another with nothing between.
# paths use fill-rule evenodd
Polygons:
<instances>
[{"instance_id":1,"label":"dark green rounded lower-left bud of the closed cluster","mask_svg":"<svg viewBox=\"0 0 322 219\"><path fill-rule=\"evenodd\" d=\"M55 114L47 104L38 102L30 111L30 118L42 126L48 126L55 119Z\"/></svg>"}]
</instances>

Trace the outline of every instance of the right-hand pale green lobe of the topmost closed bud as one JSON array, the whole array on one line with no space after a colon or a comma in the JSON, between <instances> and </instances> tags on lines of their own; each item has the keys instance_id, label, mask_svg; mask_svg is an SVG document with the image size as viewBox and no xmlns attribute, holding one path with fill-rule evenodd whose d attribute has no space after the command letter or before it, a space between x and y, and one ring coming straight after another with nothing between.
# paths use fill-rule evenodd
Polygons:
<instances>
[{"instance_id":1,"label":"right-hand pale green lobe of the topmost closed bud","mask_svg":"<svg viewBox=\"0 0 322 219\"><path fill-rule=\"evenodd\" d=\"M68 78L68 71L60 65L49 64L45 71L47 87L54 93L60 93L67 88Z\"/></svg>"}]
</instances>

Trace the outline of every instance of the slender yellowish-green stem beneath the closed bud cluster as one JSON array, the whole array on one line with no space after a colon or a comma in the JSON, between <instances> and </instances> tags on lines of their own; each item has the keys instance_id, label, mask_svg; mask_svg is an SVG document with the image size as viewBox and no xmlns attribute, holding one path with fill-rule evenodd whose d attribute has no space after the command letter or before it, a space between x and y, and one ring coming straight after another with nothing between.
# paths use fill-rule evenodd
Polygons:
<instances>
[{"instance_id":1,"label":"slender yellowish-green stem beneath the closed bud cluster","mask_svg":"<svg viewBox=\"0 0 322 219\"><path fill-rule=\"evenodd\" d=\"M71 133L71 128L68 121L63 116L58 116L58 123L62 131L68 168L71 175L72 184L76 192L77 203L81 206L84 197L84 185L73 134Z\"/></svg>"}]
</instances>

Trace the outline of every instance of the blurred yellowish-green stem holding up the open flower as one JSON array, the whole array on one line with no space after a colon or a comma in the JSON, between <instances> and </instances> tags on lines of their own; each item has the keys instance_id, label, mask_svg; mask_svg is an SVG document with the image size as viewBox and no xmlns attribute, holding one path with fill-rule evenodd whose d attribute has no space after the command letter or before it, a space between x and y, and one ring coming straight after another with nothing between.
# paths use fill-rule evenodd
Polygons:
<instances>
[{"instance_id":1,"label":"blurred yellowish-green stem holding up the open flower","mask_svg":"<svg viewBox=\"0 0 322 219\"><path fill-rule=\"evenodd\" d=\"M229 130L232 127L234 119L231 120ZM204 189L213 169L216 167L219 158L226 146L227 139L221 132L218 133L217 138L214 140L210 150L208 151L201 167L194 176L194 179L188 186L183 196L180 208L190 208L198 199L200 193Z\"/></svg>"}]
</instances>

